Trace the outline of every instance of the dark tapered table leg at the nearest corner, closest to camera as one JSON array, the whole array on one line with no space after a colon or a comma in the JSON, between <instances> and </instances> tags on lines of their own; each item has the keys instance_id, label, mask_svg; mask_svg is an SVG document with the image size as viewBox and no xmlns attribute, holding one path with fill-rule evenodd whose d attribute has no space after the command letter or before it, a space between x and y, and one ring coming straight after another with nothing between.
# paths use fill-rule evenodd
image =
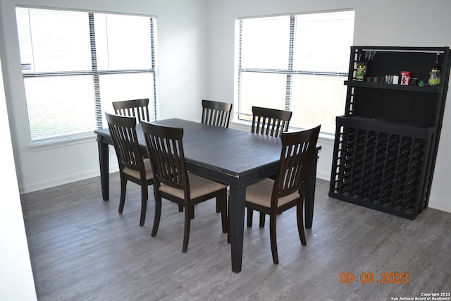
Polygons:
<instances>
[{"instance_id":1,"label":"dark tapered table leg at the nearest corner, closest to camera","mask_svg":"<svg viewBox=\"0 0 451 301\"><path fill-rule=\"evenodd\" d=\"M230 222L230 244L232 271L239 273L242 265L243 231L245 228L245 185L230 184L228 214Z\"/></svg>"}]
</instances>

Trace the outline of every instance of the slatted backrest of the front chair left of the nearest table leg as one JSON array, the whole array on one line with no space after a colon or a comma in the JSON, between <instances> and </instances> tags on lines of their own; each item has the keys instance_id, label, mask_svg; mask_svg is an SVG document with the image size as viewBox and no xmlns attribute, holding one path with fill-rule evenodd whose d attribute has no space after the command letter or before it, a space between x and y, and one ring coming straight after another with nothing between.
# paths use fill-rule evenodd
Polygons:
<instances>
[{"instance_id":1,"label":"slatted backrest of the front chair left of the nearest table leg","mask_svg":"<svg viewBox=\"0 0 451 301\"><path fill-rule=\"evenodd\" d=\"M183 128L171 128L143 121L142 133L154 171L156 186L169 185L190 193L185 154L183 152Z\"/></svg>"}]
</instances>

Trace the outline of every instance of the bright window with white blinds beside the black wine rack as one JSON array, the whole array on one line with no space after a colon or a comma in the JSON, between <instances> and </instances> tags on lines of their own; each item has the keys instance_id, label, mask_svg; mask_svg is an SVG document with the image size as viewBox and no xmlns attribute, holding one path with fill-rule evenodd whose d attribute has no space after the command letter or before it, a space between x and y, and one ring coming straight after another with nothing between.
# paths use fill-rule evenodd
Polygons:
<instances>
[{"instance_id":1,"label":"bright window with white blinds beside the black wine rack","mask_svg":"<svg viewBox=\"0 0 451 301\"><path fill-rule=\"evenodd\" d=\"M236 21L235 102L238 118L252 106L293 112L291 127L321 124L335 133L345 111L354 11L293 14Z\"/></svg>"}]
</instances>

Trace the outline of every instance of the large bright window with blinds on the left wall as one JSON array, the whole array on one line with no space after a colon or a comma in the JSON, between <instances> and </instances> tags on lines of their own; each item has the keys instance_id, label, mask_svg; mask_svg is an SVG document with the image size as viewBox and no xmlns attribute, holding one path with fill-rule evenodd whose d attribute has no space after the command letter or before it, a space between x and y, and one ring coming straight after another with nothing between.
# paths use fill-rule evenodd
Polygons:
<instances>
[{"instance_id":1,"label":"large bright window with blinds on the left wall","mask_svg":"<svg viewBox=\"0 0 451 301\"><path fill-rule=\"evenodd\" d=\"M16 8L32 143L104 128L111 102L149 98L156 118L156 20Z\"/></svg>"}]
</instances>

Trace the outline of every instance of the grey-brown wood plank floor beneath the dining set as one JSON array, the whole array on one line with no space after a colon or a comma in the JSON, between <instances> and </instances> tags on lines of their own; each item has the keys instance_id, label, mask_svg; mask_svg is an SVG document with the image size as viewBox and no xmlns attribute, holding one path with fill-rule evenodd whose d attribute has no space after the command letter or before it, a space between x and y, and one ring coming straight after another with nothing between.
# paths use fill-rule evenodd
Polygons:
<instances>
[{"instance_id":1,"label":"grey-brown wood plank floor beneath the dining set","mask_svg":"<svg viewBox=\"0 0 451 301\"><path fill-rule=\"evenodd\" d=\"M182 253L183 214L164 202L159 232L152 187L140 222L140 188L128 185L117 213L119 179L110 200L91 178L21 196L39 300L394 300L451 293L451 214L428 208L414 221L328 197L317 181L314 224L307 246L295 209L278 218L280 264L271 259L269 223L245 228L242 271L230 266L216 202L197 205L190 245ZM383 273L408 273L408 283L381 283ZM359 282L341 283L353 273ZM361 283L373 273L373 283ZM377 281L377 282L376 282Z\"/></svg>"}]
</instances>

